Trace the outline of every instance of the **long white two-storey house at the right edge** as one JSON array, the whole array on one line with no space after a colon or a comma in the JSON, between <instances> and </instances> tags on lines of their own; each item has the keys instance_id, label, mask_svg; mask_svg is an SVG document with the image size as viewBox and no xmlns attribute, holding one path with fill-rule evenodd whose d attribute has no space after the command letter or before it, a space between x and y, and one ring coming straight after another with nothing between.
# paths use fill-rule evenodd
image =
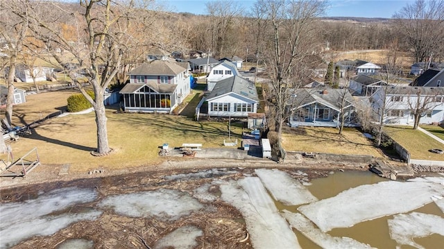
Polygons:
<instances>
[{"instance_id":1,"label":"long white two-storey house at the right edge","mask_svg":"<svg viewBox=\"0 0 444 249\"><path fill-rule=\"evenodd\" d=\"M418 124L442 123L444 87L381 87L373 94L371 104L375 118L379 120L384 115L384 123L413 125L413 111L419 108L424 112Z\"/></svg>"}]
</instances>

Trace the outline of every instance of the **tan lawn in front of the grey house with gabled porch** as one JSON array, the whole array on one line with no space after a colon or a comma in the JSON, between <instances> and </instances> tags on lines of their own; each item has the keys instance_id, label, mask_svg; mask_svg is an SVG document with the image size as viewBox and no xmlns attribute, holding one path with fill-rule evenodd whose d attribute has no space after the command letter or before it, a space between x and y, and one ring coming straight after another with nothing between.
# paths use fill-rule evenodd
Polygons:
<instances>
[{"instance_id":1,"label":"tan lawn in front of the grey house with gabled porch","mask_svg":"<svg viewBox=\"0 0 444 249\"><path fill-rule=\"evenodd\" d=\"M287 151L334 153L343 155L373 155L382 157L372 141L355 128L300 127L284 129L283 146Z\"/></svg>"}]
</instances>

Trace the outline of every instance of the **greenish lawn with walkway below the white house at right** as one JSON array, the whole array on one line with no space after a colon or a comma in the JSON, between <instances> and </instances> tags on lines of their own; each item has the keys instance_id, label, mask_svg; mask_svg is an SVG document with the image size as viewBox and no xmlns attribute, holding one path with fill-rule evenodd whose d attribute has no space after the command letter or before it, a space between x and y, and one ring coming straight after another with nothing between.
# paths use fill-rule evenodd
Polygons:
<instances>
[{"instance_id":1,"label":"greenish lawn with walkway below the white house at right","mask_svg":"<svg viewBox=\"0 0 444 249\"><path fill-rule=\"evenodd\" d=\"M432 148L444 150L444 144L424 132L413 130L411 126L385 126L384 130L393 140L410 152L411 159L444 160L444 155L429 152L429 149Z\"/></svg>"}]
</instances>

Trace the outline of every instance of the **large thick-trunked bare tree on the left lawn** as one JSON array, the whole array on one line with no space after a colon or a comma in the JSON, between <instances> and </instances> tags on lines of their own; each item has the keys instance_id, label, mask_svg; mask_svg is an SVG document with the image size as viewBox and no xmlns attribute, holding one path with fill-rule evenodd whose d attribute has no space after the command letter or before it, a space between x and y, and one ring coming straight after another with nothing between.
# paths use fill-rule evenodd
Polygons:
<instances>
[{"instance_id":1,"label":"large thick-trunked bare tree on the left lawn","mask_svg":"<svg viewBox=\"0 0 444 249\"><path fill-rule=\"evenodd\" d=\"M92 104L96 114L97 150L94 155L107 155L112 151L108 144L103 94L121 69L123 55L136 53L133 40L146 31L147 22L151 23L150 3L81 0L80 6L67 8L66 4L62 6L62 3L44 1L37 7L45 8L33 8L29 15L16 10L23 19L30 19L29 27L34 35L44 42L60 65L66 65L67 58L70 58L68 62L72 62L72 58L77 62L77 65L69 67L68 74ZM51 10L51 15L45 13L48 10ZM64 32L60 25L60 20L66 21L67 17L69 22L65 23L72 24L71 35ZM65 55L62 57L54 53L51 46L60 47ZM92 87L94 98L80 84L79 75L86 78L86 87Z\"/></svg>"}]
</instances>

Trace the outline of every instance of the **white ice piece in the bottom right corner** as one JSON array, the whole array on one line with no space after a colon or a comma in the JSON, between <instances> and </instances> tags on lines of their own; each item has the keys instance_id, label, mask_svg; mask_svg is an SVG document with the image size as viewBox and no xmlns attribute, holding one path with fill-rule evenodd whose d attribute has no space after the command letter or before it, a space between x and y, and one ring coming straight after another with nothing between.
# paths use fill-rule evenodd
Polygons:
<instances>
[{"instance_id":1,"label":"white ice piece in the bottom right corner","mask_svg":"<svg viewBox=\"0 0 444 249\"><path fill-rule=\"evenodd\" d=\"M390 237L398 242L398 245L409 245L423 248L413 241L414 238L426 237L430 234L441 234L444 236L444 218L434 214L422 214L413 212L411 214L397 214L388 220ZM441 245L442 248L443 245Z\"/></svg>"}]
</instances>

